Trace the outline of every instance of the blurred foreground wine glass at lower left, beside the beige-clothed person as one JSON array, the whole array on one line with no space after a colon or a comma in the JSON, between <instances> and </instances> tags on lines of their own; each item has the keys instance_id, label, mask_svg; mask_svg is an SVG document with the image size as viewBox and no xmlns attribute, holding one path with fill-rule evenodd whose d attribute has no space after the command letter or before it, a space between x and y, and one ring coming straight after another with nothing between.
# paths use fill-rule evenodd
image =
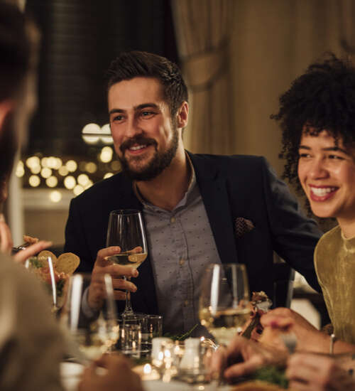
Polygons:
<instances>
[{"instance_id":1,"label":"blurred foreground wine glass at lower left, beside the beige-clothed person","mask_svg":"<svg viewBox=\"0 0 355 391\"><path fill-rule=\"evenodd\" d=\"M104 305L91 309L85 295L90 286L91 274L73 274L69 280L65 306L60 321L74 340L70 346L77 360L88 362L96 360L103 353L111 351L119 338L116 303L112 278L102 274L105 290Z\"/></svg>"}]
</instances>

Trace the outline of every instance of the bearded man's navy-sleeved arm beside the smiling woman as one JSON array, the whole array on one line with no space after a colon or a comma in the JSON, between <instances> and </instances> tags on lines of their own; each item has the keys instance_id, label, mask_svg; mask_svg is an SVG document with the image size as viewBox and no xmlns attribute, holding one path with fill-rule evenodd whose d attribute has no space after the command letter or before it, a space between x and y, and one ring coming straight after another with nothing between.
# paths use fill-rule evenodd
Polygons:
<instances>
[{"instance_id":1,"label":"bearded man's navy-sleeved arm beside the smiling woman","mask_svg":"<svg viewBox=\"0 0 355 391\"><path fill-rule=\"evenodd\" d=\"M315 273L313 253L322 232L314 220L305 218L288 186L275 175L266 160L262 167L274 250L293 269L300 272L312 288L321 291Z\"/></svg>"}]
</instances>

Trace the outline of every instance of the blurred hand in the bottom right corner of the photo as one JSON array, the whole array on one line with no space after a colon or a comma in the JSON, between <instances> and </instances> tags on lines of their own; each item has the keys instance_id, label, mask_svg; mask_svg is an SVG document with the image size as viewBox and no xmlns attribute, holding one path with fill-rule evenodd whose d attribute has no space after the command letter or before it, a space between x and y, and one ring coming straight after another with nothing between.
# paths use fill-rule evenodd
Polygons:
<instances>
[{"instance_id":1,"label":"blurred hand in the bottom right corner of the photo","mask_svg":"<svg viewBox=\"0 0 355 391\"><path fill-rule=\"evenodd\" d=\"M330 357L296 353L288 360L286 375L291 390L353 391L355 379Z\"/></svg>"}]
</instances>

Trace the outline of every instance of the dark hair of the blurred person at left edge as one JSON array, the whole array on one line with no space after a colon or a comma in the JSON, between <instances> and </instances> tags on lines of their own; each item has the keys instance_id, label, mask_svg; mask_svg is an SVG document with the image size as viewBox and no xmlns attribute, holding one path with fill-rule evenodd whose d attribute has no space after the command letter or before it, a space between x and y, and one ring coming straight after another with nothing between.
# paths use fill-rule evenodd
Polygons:
<instances>
[{"instance_id":1,"label":"dark hair of the blurred person at left edge","mask_svg":"<svg viewBox=\"0 0 355 391\"><path fill-rule=\"evenodd\" d=\"M0 101L13 97L31 60L28 23L18 7L0 2Z\"/></svg>"}]
</instances>

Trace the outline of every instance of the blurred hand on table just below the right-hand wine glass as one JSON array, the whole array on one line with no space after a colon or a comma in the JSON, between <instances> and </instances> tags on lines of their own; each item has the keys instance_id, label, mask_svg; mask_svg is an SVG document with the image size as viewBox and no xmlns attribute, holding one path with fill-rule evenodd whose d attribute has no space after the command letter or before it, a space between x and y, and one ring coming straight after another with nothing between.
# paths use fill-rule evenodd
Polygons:
<instances>
[{"instance_id":1,"label":"blurred hand on table just below the right-hand wine glass","mask_svg":"<svg viewBox=\"0 0 355 391\"><path fill-rule=\"evenodd\" d=\"M263 343L236 336L229 346L218 348L212 356L212 373L223 375L232 382L264 365L285 363L287 357L285 350L268 348Z\"/></svg>"}]
</instances>

